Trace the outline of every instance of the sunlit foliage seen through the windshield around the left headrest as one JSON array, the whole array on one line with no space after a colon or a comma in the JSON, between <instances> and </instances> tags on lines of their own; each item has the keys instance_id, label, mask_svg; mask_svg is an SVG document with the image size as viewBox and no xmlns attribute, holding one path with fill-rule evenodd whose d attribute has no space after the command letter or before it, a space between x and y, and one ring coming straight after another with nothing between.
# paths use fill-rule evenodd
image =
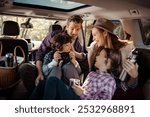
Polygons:
<instances>
[{"instance_id":1,"label":"sunlit foliage seen through the windshield around the left headrest","mask_svg":"<svg viewBox=\"0 0 150 117\"><path fill-rule=\"evenodd\" d=\"M0 32L2 27L2 22L6 20L12 20L18 22L20 26L20 35L19 37L23 37L23 28L21 28L21 23L26 22L26 17L16 17L16 16L3 16L0 15ZM49 26L54 24L54 20L47 20L47 19L40 19L40 18L31 18L30 23L33 24L33 28L26 29L27 34L26 37L23 38L29 38L33 41L42 41L44 37L47 35L49 31Z\"/></svg>"}]
</instances>

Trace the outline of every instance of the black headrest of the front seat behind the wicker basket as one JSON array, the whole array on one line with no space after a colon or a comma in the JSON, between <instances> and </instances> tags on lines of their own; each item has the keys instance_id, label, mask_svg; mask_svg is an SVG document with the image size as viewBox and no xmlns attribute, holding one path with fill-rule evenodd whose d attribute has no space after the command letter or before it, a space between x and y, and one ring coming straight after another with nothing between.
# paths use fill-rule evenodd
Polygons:
<instances>
[{"instance_id":1,"label":"black headrest of the front seat behind the wicker basket","mask_svg":"<svg viewBox=\"0 0 150 117\"><path fill-rule=\"evenodd\" d=\"M18 36L20 28L15 21L4 21L2 24L2 35Z\"/></svg>"}]
</instances>

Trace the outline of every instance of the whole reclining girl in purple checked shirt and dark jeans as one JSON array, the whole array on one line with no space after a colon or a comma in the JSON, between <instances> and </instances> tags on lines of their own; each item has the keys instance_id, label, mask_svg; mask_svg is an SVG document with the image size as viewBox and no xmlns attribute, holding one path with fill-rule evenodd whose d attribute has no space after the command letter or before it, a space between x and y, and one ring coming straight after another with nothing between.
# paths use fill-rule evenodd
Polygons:
<instances>
[{"instance_id":1,"label":"whole reclining girl in purple checked shirt and dark jeans","mask_svg":"<svg viewBox=\"0 0 150 117\"><path fill-rule=\"evenodd\" d=\"M111 71L114 67L119 69L120 62L119 51L100 48L95 62L97 70L88 74L82 86L74 84L68 88L58 78L51 77L46 85L49 92L44 93L43 99L112 99L116 83Z\"/></svg>"}]
</instances>

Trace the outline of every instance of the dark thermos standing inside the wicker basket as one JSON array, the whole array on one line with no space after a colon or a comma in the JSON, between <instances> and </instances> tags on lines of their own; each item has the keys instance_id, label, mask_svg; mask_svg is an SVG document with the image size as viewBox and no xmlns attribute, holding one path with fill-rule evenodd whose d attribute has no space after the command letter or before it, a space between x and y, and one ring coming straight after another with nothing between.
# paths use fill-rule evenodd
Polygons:
<instances>
[{"instance_id":1,"label":"dark thermos standing inside the wicker basket","mask_svg":"<svg viewBox=\"0 0 150 117\"><path fill-rule=\"evenodd\" d=\"M14 62L13 54L7 53L5 55L5 66L6 67L13 67L13 62Z\"/></svg>"}]
</instances>

